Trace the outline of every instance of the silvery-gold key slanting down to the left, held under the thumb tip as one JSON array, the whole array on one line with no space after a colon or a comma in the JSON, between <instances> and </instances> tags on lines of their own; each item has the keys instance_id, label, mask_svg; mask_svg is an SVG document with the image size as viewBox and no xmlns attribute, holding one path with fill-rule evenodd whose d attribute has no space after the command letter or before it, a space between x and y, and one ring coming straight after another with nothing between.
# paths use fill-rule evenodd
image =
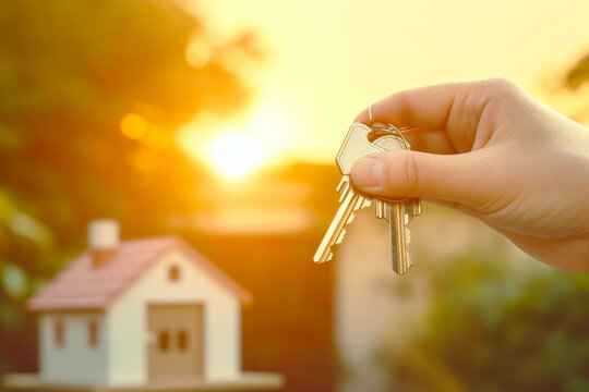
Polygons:
<instances>
[{"instance_id":1,"label":"silvery-gold key slanting down to the left, held under the thumb tip","mask_svg":"<svg viewBox=\"0 0 589 392\"><path fill-rule=\"evenodd\" d=\"M371 132L372 130L366 125L353 123L337 152L336 163L341 172L341 181L337 186L337 192L340 193L339 203L341 205L313 257L315 262L325 262L332 259L334 255L332 248L344 240L345 228L353 220L353 212L372 205L372 198L359 194L350 184L350 170L358 158L384 151L384 148L369 142Z\"/></svg>"}]
</instances>

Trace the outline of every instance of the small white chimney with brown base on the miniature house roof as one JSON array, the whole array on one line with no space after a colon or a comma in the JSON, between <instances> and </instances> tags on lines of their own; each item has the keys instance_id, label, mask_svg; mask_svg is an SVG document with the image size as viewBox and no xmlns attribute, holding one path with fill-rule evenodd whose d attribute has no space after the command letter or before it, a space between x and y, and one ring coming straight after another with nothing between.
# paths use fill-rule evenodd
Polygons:
<instances>
[{"instance_id":1,"label":"small white chimney with brown base on the miniature house roof","mask_svg":"<svg viewBox=\"0 0 589 392\"><path fill-rule=\"evenodd\" d=\"M88 224L88 247L92 264L99 268L111 258L119 246L119 222L113 219L100 219Z\"/></svg>"}]
</instances>

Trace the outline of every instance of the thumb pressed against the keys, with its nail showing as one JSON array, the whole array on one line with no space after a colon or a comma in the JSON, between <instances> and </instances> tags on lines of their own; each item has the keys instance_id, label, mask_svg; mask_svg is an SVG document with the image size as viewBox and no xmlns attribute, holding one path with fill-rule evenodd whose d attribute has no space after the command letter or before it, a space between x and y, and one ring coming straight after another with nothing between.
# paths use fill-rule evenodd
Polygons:
<instances>
[{"instance_id":1,"label":"thumb pressed against the keys, with its nail showing","mask_svg":"<svg viewBox=\"0 0 589 392\"><path fill-rule=\"evenodd\" d=\"M428 197L476 207L484 191L482 173L474 163L472 152L385 151L358 159L351 177L360 191L369 194Z\"/></svg>"}]
</instances>

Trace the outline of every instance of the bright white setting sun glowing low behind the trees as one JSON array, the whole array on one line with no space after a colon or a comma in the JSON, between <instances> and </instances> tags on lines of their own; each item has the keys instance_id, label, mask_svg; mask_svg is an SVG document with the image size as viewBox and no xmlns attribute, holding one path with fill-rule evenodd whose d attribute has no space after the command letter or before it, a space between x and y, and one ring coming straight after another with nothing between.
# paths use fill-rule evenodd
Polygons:
<instances>
[{"instance_id":1,"label":"bright white setting sun glowing low behind the trees","mask_svg":"<svg viewBox=\"0 0 589 392\"><path fill-rule=\"evenodd\" d=\"M236 180L260 168L264 151L256 137L227 131L214 137L206 147L206 157L226 179Z\"/></svg>"}]
</instances>

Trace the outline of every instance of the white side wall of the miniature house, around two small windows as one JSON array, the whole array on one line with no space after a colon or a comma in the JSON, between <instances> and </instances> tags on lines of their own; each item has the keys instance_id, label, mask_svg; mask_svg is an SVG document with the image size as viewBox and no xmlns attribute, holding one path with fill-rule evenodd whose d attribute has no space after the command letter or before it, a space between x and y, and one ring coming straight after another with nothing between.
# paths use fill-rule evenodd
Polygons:
<instances>
[{"instance_id":1,"label":"white side wall of the miniature house, around two small windows","mask_svg":"<svg viewBox=\"0 0 589 392\"><path fill-rule=\"evenodd\" d=\"M55 323L63 324L63 345L56 346ZM98 342L88 344L88 323L96 320ZM104 383L107 381L107 354L104 317L100 314L43 314L39 320L40 369L44 381L62 383Z\"/></svg>"}]
</instances>

